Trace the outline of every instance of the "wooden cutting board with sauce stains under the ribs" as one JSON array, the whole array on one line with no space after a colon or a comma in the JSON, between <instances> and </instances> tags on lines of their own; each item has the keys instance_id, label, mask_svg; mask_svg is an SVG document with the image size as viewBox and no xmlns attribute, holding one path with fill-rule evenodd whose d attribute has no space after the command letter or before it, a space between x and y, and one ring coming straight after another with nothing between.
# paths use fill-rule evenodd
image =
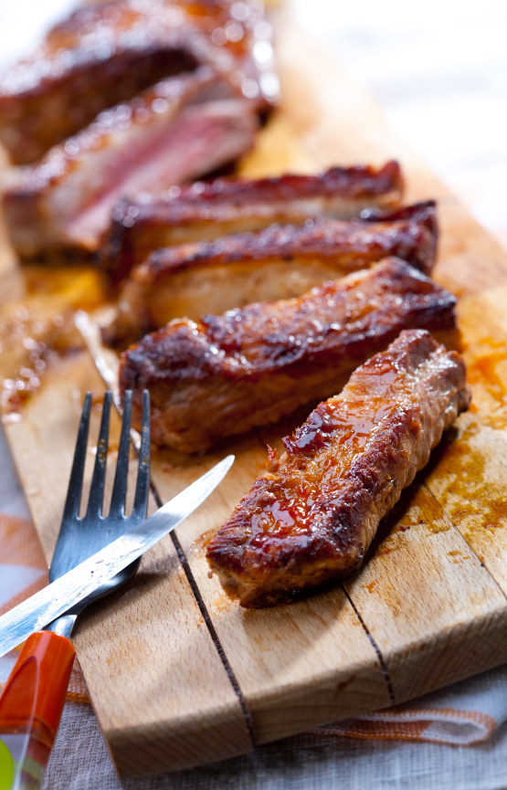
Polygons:
<instances>
[{"instance_id":1,"label":"wooden cutting board with sauce stains under the ribs","mask_svg":"<svg viewBox=\"0 0 507 790\"><path fill-rule=\"evenodd\" d=\"M278 55L284 102L242 172L314 172L334 163L399 159L407 202L438 199L435 278L460 297L473 403L383 522L359 572L331 591L270 610L242 610L227 599L208 576L203 535L247 492L263 468L266 443L280 446L304 415L224 442L201 458L153 452L161 501L227 452L237 460L174 539L147 553L132 584L83 616L73 637L124 776L248 753L254 743L386 708L507 661L507 255L290 19L280 22ZM5 243L1 253L5 302L8 294L23 293L24 277ZM90 270L72 278L47 274L39 308L64 313L69 305L100 301ZM16 354L8 359L12 364ZM114 360L100 363L107 375ZM104 384L77 343L74 353L48 363L22 413L5 415L48 560L88 389L99 402ZM95 412L93 437L99 417ZM115 419L115 431L118 424ZM89 460L91 467L91 454Z\"/></svg>"}]
</instances>

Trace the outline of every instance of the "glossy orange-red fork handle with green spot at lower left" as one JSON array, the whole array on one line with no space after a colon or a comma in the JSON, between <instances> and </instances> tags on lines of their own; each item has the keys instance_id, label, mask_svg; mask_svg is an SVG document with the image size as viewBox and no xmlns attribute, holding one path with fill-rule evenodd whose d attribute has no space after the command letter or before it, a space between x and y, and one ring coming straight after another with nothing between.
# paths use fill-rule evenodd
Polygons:
<instances>
[{"instance_id":1,"label":"glossy orange-red fork handle with green spot at lower left","mask_svg":"<svg viewBox=\"0 0 507 790\"><path fill-rule=\"evenodd\" d=\"M42 784L74 653L69 639L52 631L26 639L0 696L0 787L37 790Z\"/></svg>"}]
</instances>

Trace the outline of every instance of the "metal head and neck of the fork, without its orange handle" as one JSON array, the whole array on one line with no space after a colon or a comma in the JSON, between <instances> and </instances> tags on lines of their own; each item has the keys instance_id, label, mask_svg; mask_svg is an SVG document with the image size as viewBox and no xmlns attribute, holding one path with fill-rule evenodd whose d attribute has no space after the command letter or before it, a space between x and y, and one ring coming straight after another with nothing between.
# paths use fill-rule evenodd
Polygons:
<instances>
[{"instance_id":1,"label":"metal head and neck of the fork, without its orange handle","mask_svg":"<svg viewBox=\"0 0 507 790\"><path fill-rule=\"evenodd\" d=\"M104 396L99 441L97 443L97 457L95 458L95 467L91 479L88 509L86 515L81 519L79 518L79 504L83 487L91 411L91 393L86 395L79 425L74 462L70 473L67 500L58 534L58 542L53 554L51 567L49 568L49 582L54 582L63 574L67 574L76 565L87 560L92 554L100 551L104 546L109 545L128 529L146 518L150 490L150 394L148 390L143 392L139 469L132 513L130 516L125 515L132 414L132 390L127 390L123 402L120 446L118 448L116 474L112 489L111 508L109 515L103 516L101 514L109 447L111 400L111 392L107 392ZM69 612L65 615L54 620L45 630L53 631L69 638L76 623L76 618L83 609L100 598L111 595L112 592L125 585L137 571L140 562L141 559L135 560L135 562L128 565L119 574L113 576L109 582L101 585L94 593L79 602L77 606L69 609Z\"/></svg>"}]
</instances>

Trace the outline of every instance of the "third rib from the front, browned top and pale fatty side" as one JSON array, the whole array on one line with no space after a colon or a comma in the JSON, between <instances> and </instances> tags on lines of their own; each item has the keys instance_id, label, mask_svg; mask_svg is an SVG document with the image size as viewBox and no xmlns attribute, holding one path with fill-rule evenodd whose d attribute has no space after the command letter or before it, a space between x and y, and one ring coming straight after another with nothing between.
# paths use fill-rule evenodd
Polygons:
<instances>
[{"instance_id":1,"label":"third rib from the front, browned top and pale fatty side","mask_svg":"<svg viewBox=\"0 0 507 790\"><path fill-rule=\"evenodd\" d=\"M256 234L159 250L123 283L117 316L104 329L104 340L126 348L180 316L197 321L206 312L221 313L252 301L291 299L389 255L429 274L436 248L431 202L386 221L271 226Z\"/></svg>"}]
</instances>

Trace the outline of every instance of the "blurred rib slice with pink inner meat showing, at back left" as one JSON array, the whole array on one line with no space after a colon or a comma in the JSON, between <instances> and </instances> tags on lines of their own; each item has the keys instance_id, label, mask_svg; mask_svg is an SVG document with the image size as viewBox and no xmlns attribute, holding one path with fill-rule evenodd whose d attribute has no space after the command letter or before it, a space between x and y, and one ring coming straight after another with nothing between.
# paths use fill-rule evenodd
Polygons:
<instances>
[{"instance_id":1,"label":"blurred rib slice with pink inner meat showing, at back left","mask_svg":"<svg viewBox=\"0 0 507 790\"><path fill-rule=\"evenodd\" d=\"M16 251L90 253L120 195L160 192L247 151L257 116L233 95L212 68L165 79L18 169L3 197Z\"/></svg>"}]
</instances>

